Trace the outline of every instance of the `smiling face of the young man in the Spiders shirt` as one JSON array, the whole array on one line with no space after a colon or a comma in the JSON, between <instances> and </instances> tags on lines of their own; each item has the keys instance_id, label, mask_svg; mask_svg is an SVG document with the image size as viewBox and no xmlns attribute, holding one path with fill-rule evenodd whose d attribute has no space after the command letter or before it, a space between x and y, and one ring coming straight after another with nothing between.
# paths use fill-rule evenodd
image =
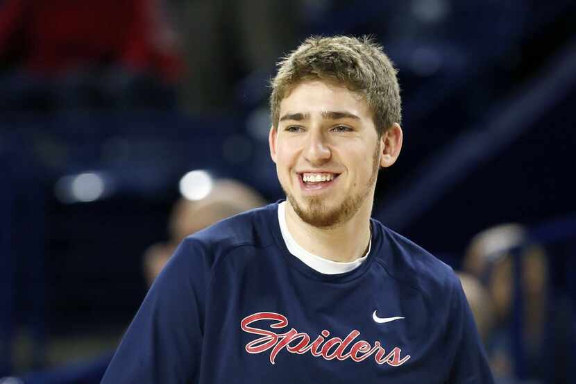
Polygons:
<instances>
[{"instance_id":1,"label":"smiling face of the young man in the Spiders shirt","mask_svg":"<svg viewBox=\"0 0 576 384\"><path fill-rule=\"evenodd\" d=\"M363 206L371 211L382 143L364 98L323 81L294 87L270 133L287 199L319 228L347 222Z\"/></svg>"}]
</instances>

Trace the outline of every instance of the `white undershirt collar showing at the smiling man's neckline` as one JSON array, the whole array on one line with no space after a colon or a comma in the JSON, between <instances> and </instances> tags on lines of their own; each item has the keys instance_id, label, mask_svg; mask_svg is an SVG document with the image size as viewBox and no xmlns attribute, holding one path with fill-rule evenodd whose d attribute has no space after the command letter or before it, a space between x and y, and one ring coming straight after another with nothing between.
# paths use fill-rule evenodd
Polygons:
<instances>
[{"instance_id":1,"label":"white undershirt collar showing at the smiling man's neckline","mask_svg":"<svg viewBox=\"0 0 576 384\"><path fill-rule=\"evenodd\" d=\"M286 243L288 251L297 258L299 258L308 267L320 272L321 274L343 274L344 272L350 272L351 270L359 267L362 262L366 260L370 253L372 247L372 239L368 244L368 251L366 255L362 258L358 258L350 262L337 262L316 256L300 247L294 237L292 237L290 231L288 230L288 225L286 224L286 201L278 204L278 223L280 224L280 232L282 233L282 238Z\"/></svg>"}]
</instances>

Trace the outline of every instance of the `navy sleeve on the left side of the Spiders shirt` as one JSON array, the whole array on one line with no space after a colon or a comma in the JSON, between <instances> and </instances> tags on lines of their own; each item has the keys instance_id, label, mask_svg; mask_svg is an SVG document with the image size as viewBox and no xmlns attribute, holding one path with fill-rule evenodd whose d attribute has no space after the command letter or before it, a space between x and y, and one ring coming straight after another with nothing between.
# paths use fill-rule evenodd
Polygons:
<instances>
[{"instance_id":1,"label":"navy sleeve on the left side of the Spiders shirt","mask_svg":"<svg viewBox=\"0 0 576 384\"><path fill-rule=\"evenodd\" d=\"M196 383L207 266L187 239L156 278L101 384Z\"/></svg>"}]
</instances>

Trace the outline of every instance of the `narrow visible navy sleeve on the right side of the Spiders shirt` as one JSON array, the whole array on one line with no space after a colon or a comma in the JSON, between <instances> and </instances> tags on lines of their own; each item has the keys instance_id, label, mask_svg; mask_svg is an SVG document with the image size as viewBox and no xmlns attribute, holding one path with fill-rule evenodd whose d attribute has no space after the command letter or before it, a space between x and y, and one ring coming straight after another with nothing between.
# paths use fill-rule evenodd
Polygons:
<instances>
[{"instance_id":1,"label":"narrow visible navy sleeve on the right side of the Spiders shirt","mask_svg":"<svg viewBox=\"0 0 576 384\"><path fill-rule=\"evenodd\" d=\"M448 384L493 384L494 378L480 342L476 324L464 290L454 276L448 328L457 341Z\"/></svg>"}]
</instances>

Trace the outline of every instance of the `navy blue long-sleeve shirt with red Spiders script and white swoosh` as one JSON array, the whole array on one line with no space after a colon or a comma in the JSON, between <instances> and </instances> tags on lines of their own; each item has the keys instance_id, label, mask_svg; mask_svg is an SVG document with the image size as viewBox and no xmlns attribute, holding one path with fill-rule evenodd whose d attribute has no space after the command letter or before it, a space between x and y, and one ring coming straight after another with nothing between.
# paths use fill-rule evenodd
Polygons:
<instances>
[{"instance_id":1,"label":"navy blue long-sleeve shirt with red Spiders script and white swoosh","mask_svg":"<svg viewBox=\"0 0 576 384\"><path fill-rule=\"evenodd\" d=\"M180 244L102 384L493 383L452 269L371 220L356 269L289 253L278 203Z\"/></svg>"}]
</instances>

